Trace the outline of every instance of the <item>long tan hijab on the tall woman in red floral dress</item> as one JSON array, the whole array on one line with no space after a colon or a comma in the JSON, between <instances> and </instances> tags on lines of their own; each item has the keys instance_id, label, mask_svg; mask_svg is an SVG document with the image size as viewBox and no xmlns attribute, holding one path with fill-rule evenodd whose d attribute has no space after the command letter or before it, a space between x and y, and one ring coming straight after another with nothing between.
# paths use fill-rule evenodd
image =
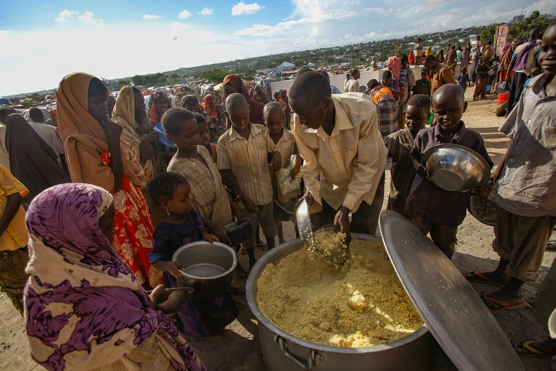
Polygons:
<instances>
[{"instance_id":1,"label":"long tan hijab on the tall woman in red floral dress","mask_svg":"<svg viewBox=\"0 0 556 371\"><path fill-rule=\"evenodd\" d=\"M94 77L85 72L75 72L60 82L56 91L58 128L66 146L72 181L94 184L111 192L114 175L110 166L103 165L101 159L101 154L108 152L108 140L101 124L88 111L88 87ZM120 151L123 172L134 185L145 187L145 172L123 138L120 140Z\"/></svg>"}]
</instances>

